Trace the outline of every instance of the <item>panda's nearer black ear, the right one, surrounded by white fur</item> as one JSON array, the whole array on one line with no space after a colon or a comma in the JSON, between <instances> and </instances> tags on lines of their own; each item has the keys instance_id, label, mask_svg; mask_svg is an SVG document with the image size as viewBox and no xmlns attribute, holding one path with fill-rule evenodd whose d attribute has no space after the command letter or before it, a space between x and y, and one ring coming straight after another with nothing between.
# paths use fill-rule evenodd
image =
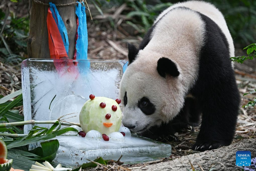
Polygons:
<instances>
[{"instance_id":1,"label":"panda's nearer black ear, the right one, surrounded by white fur","mask_svg":"<svg viewBox=\"0 0 256 171\"><path fill-rule=\"evenodd\" d=\"M159 75L162 77L165 77L166 75L171 75L174 77L179 76L179 71L176 64L166 57L158 59L156 69Z\"/></svg>"}]
</instances>

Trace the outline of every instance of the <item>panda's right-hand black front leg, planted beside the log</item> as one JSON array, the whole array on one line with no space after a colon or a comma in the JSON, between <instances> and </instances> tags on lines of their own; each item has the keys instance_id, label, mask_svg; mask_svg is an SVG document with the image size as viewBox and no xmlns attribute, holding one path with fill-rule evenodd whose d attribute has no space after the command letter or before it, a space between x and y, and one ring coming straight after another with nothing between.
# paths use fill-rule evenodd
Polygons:
<instances>
[{"instance_id":1,"label":"panda's right-hand black front leg, planted beside the log","mask_svg":"<svg viewBox=\"0 0 256 171\"><path fill-rule=\"evenodd\" d=\"M229 145L232 142L240 95L234 77L204 80L204 87L197 91L202 110L200 132L193 150L205 151Z\"/></svg>"}]
</instances>

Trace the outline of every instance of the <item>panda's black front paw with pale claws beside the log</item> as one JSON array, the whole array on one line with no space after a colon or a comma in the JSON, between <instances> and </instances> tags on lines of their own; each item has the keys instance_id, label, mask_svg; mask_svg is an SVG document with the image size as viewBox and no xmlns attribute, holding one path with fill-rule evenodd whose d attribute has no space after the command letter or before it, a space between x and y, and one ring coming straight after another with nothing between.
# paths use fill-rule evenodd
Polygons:
<instances>
[{"instance_id":1,"label":"panda's black front paw with pale claws beside the log","mask_svg":"<svg viewBox=\"0 0 256 171\"><path fill-rule=\"evenodd\" d=\"M221 146L224 146L222 143L218 141L204 142L204 143L195 143L192 147L192 150L204 152L206 150L217 149Z\"/></svg>"}]
</instances>

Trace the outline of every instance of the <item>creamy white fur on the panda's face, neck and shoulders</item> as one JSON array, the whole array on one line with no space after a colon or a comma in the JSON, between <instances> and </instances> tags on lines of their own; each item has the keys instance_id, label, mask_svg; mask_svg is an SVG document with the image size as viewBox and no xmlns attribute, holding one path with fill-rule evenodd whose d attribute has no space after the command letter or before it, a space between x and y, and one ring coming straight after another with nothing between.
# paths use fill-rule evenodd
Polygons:
<instances>
[{"instance_id":1,"label":"creamy white fur on the panda's face, neck and shoulders","mask_svg":"<svg viewBox=\"0 0 256 171\"><path fill-rule=\"evenodd\" d=\"M180 13L180 10L183 12ZM175 18L180 18L181 20L177 21ZM172 24L178 27L172 28L168 26L169 21L174 21ZM175 22L186 24L179 25ZM184 33L184 29L187 30L186 33ZM191 10L177 9L174 12L167 13L158 22L150 43L139 51L137 55L139 58L127 67L122 78L120 97L124 97L124 90L126 90L127 97L130 99L129 102L132 103L127 104L125 107L122 121L124 125L135 125L137 122L136 125L139 125L139 127L133 130L136 132L148 124L148 127L150 127L161 122L168 122L179 113L188 89L194 85L197 79L199 61L197 56L204 42L203 30L204 23L200 20L199 14ZM170 38L168 35L177 35L177 37ZM180 76L177 79L170 77L166 80L163 77L159 77L157 72L152 71L152 68L157 67L157 60L160 57L169 57L177 64L180 72ZM150 80L154 80L154 84L148 82ZM158 91L145 92L151 89L145 86L154 86L154 89ZM169 94L165 93L167 89L170 90ZM155 114L150 116L144 115L139 108L129 109L130 106L134 106L134 103L138 102L139 99L136 99L136 97L145 95L154 100L153 104L161 104L161 106L156 106ZM166 99L172 100L166 101ZM157 122L151 122L152 120Z\"/></svg>"}]
</instances>

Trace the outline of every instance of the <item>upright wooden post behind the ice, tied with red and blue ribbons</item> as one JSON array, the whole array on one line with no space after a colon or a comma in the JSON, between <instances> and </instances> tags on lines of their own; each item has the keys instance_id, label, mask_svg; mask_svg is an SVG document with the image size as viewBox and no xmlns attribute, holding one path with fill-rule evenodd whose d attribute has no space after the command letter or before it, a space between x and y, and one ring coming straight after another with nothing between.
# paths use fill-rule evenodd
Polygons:
<instances>
[{"instance_id":1,"label":"upright wooden post behind the ice, tied with red and blue ribbons","mask_svg":"<svg viewBox=\"0 0 256 171\"><path fill-rule=\"evenodd\" d=\"M41 2L54 4L68 4L75 0L41 0ZM38 4L32 1L30 12L30 25L28 37L29 58L50 58L47 31L47 12L49 6ZM74 40L76 36L76 7L75 5L57 6L59 14L67 28L69 40L68 57L71 59L74 53Z\"/></svg>"}]
</instances>

